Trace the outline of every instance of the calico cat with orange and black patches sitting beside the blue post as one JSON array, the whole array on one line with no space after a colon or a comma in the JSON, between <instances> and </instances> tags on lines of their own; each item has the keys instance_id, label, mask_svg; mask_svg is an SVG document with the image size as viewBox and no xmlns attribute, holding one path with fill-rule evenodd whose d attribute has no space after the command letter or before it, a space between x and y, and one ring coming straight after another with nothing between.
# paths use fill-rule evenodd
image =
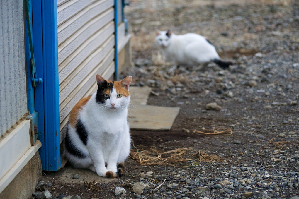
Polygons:
<instances>
[{"instance_id":1,"label":"calico cat with orange and black patches sitting beside the blue post","mask_svg":"<svg viewBox=\"0 0 299 199\"><path fill-rule=\"evenodd\" d=\"M81 99L71 110L64 155L75 168L97 175L123 175L131 138L127 122L132 77L106 81L96 75L97 92Z\"/></svg>"}]
</instances>

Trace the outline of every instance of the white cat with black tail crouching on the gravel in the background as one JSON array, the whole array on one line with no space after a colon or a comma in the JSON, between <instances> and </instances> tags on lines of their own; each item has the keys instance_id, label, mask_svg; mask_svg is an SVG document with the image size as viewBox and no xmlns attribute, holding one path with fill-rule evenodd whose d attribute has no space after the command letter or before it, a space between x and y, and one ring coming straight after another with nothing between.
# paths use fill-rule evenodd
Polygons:
<instances>
[{"instance_id":1,"label":"white cat with black tail crouching on the gravel in the background","mask_svg":"<svg viewBox=\"0 0 299 199\"><path fill-rule=\"evenodd\" d=\"M157 30L155 42L166 60L173 62L172 69L179 65L195 66L199 64L203 64L201 69L205 69L211 61L223 69L232 64L221 61L211 42L204 36L195 33L175 35L171 30Z\"/></svg>"}]
</instances>

